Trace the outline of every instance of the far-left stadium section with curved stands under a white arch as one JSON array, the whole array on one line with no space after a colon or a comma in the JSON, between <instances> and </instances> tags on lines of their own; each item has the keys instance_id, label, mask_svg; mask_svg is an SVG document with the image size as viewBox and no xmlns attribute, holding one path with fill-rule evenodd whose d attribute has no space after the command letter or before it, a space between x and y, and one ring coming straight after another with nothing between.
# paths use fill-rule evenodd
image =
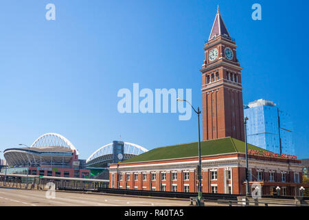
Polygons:
<instances>
[{"instance_id":1,"label":"far-left stadium section with curved stands under a white arch","mask_svg":"<svg viewBox=\"0 0 309 220\"><path fill-rule=\"evenodd\" d=\"M78 150L58 133L45 133L31 146L8 148L3 151L8 172L28 172L30 175L56 177L90 177L90 170L78 159ZM82 166L84 164L84 166ZM22 168L22 169L18 169Z\"/></svg>"}]
</instances>

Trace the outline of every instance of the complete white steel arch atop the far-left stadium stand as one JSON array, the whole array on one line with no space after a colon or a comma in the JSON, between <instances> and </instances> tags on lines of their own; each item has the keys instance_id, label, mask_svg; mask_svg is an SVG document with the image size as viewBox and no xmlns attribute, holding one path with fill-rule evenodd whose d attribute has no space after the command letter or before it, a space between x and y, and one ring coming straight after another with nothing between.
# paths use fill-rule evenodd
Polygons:
<instances>
[{"instance_id":1,"label":"complete white steel arch atop the far-left stadium stand","mask_svg":"<svg viewBox=\"0 0 309 220\"><path fill-rule=\"evenodd\" d=\"M71 150L76 151L76 155L79 154L76 147L67 140L66 137L58 134L58 133L45 133L38 137L33 144L31 144L31 147L41 147L41 146L62 146L71 148Z\"/></svg>"}]
</instances>

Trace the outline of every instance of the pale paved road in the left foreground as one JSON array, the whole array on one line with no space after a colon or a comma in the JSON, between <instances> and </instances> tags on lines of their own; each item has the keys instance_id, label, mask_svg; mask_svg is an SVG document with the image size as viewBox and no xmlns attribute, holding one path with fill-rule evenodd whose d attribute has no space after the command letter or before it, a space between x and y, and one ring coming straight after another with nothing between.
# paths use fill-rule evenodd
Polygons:
<instances>
[{"instance_id":1,"label":"pale paved road in the left foreground","mask_svg":"<svg viewBox=\"0 0 309 220\"><path fill-rule=\"evenodd\" d=\"M0 206L188 206L189 200L155 199L80 192L56 192L47 199L46 191L0 188Z\"/></svg>"}]
</instances>

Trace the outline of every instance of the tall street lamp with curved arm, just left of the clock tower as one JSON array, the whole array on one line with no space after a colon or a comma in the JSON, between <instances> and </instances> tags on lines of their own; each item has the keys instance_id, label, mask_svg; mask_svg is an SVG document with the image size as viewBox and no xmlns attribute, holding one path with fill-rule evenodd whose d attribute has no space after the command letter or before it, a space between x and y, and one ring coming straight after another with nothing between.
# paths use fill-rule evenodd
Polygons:
<instances>
[{"instance_id":1,"label":"tall street lamp with curved arm, just left of the clock tower","mask_svg":"<svg viewBox=\"0 0 309 220\"><path fill-rule=\"evenodd\" d=\"M202 175L201 175L201 171L202 171L202 162L201 162L201 135L200 135L200 108L198 107L197 111L194 109L194 107L192 106L192 104L190 102L188 102L187 100L183 100L180 98L176 99L179 102L187 102L191 105L192 109L195 111L195 113L198 115L198 197L197 197L197 203L198 206L204 206L204 203L202 201L203 199L203 192L201 190L202 188Z\"/></svg>"}]
</instances>

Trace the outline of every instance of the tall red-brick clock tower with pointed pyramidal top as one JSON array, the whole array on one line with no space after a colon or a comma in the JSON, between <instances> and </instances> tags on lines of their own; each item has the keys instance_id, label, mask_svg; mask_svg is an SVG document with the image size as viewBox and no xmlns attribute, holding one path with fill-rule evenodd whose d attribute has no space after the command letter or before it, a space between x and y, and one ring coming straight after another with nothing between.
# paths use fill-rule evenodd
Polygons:
<instances>
[{"instance_id":1,"label":"tall red-brick clock tower with pointed pyramidal top","mask_svg":"<svg viewBox=\"0 0 309 220\"><path fill-rule=\"evenodd\" d=\"M219 8L205 43L203 69L203 140L235 137L244 141L240 63Z\"/></svg>"}]
</instances>

